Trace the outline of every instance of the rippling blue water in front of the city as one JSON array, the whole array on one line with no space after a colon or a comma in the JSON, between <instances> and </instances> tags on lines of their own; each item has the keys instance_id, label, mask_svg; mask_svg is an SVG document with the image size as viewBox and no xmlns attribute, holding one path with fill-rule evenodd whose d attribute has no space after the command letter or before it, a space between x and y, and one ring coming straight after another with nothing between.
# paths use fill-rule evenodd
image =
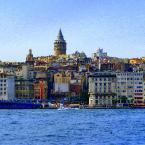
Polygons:
<instances>
[{"instance_id":1,"label":"rippling blue water in front of the city","mask_svg":"<svg viewBox=\"0 0 145 145\"><path fill-rule=\"evenodd\" d=\"M0 145L145 145L145 110L0 110Z\"/></svg>"}]
</instances>

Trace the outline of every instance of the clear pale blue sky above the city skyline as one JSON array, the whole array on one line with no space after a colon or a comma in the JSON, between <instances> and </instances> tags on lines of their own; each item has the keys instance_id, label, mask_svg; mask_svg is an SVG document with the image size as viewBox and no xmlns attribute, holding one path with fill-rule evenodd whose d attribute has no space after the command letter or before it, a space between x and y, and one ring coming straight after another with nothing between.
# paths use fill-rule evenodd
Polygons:
<instances>
[{"instance_id":1,"label":"clear pale blue sky above the city skyline","mask_svg":"<svg viewBox=\"0 0 145 145\"><path fill-rule=\"evenodd\" d=\"M53 54L60 27L67 53L145 56L144 0L0 0L0 60Z\"/></svg>"}]
</instances>

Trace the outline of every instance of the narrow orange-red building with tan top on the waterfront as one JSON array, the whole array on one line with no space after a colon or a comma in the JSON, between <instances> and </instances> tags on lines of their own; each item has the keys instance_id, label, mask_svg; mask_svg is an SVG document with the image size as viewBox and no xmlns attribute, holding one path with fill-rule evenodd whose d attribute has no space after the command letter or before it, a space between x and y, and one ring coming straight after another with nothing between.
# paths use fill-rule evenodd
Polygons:
<instances>
[{"instance_id":1,"label":"narrow orange-red building with tan top on the waterfront","mask_svg":"<svg viewBox=\"0 0 145 145\"><path fill-rule=\"evenodd\" d=\"M37 72L34 81L34 98L47 99L48 98L48 80L45 72Z\"/></svg>"}]
</instances>

